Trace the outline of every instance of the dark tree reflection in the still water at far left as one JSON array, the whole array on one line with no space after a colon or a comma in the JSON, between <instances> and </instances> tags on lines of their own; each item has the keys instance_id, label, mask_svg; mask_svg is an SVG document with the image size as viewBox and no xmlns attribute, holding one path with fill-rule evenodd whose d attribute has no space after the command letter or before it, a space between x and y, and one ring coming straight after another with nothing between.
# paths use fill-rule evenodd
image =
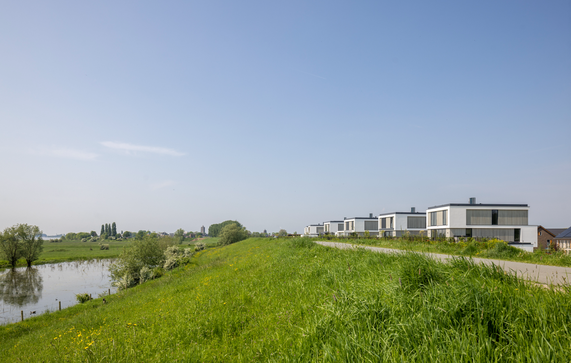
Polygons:
<instances>
[{"instance_id":1,"label":"dark tree reflection in the still water at far left","mask_svg":"<svg viewBox=\"0 0 571 363\"><path fill-rule=\"evenodd\" d=\"M43 288L42 275L34 267L13 269L0 275L0 300L9 305L36 304Z\"/></svg>"}]
</instances>

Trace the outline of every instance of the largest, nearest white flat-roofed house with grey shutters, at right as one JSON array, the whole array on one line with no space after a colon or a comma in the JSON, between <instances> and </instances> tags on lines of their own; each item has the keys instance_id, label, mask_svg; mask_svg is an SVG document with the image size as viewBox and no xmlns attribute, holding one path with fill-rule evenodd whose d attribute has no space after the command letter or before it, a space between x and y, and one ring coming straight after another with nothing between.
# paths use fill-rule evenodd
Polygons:
<instances>
[{"instance_id":1,"label":"largest, nearest white flat-roofed house with grey shutters, at right","mask_svg":"<svg viewBox=\"0 0 571 363\"><path fill-rule=\"evenodd\" d=\"M497 238L526 251L537 247L537 226L528 225L527 204L450 203L426 210L429 237Z\"/></svg>"}]
</instances>

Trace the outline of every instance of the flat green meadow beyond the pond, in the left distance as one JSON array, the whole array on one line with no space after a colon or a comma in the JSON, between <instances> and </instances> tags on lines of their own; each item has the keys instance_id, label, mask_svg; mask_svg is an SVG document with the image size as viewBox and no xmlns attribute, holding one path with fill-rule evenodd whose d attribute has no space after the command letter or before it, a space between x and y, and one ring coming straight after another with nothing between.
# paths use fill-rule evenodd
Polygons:
<instances>
[{"instance_id":1,"label":"flat green meadow beyond the pond, in the left distance","mask_svg":"<svg viewBox=\"0 0 571 363\"><path fill-rule=\"evenodd\" d=\"M64 261L91 260L98 258L113 258L119 256L123 246L131 241L103 240L103 244L109 244L109 250L100 250L98 242L63 241L50 243L44 241L44 251L34 265L57 263ZM26 261L20 259L18 266L26 266ZM8 261L0 260L0 268L10 267Z\"/></svg>"}]
</instances>

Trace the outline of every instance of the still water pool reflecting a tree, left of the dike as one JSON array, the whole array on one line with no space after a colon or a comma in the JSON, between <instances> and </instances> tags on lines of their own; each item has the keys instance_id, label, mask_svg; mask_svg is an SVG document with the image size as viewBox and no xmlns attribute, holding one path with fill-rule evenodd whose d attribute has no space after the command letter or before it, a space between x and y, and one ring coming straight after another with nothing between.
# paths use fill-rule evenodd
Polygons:
<instances>
[{"instance_id":1,"label":"still water pool reflecting a tree, left of the dike","mask_svg":"<svg viewBox=\"0 0 571 363\"><path fill-rule=\"evenodd\" d=\"M111 286L109 265L113 260L62 262L0 271L0 325L56 311L77 304L76 294L117 291ZM32 314L35 311L36 314Z\"/></svg>"}]
</instances>

